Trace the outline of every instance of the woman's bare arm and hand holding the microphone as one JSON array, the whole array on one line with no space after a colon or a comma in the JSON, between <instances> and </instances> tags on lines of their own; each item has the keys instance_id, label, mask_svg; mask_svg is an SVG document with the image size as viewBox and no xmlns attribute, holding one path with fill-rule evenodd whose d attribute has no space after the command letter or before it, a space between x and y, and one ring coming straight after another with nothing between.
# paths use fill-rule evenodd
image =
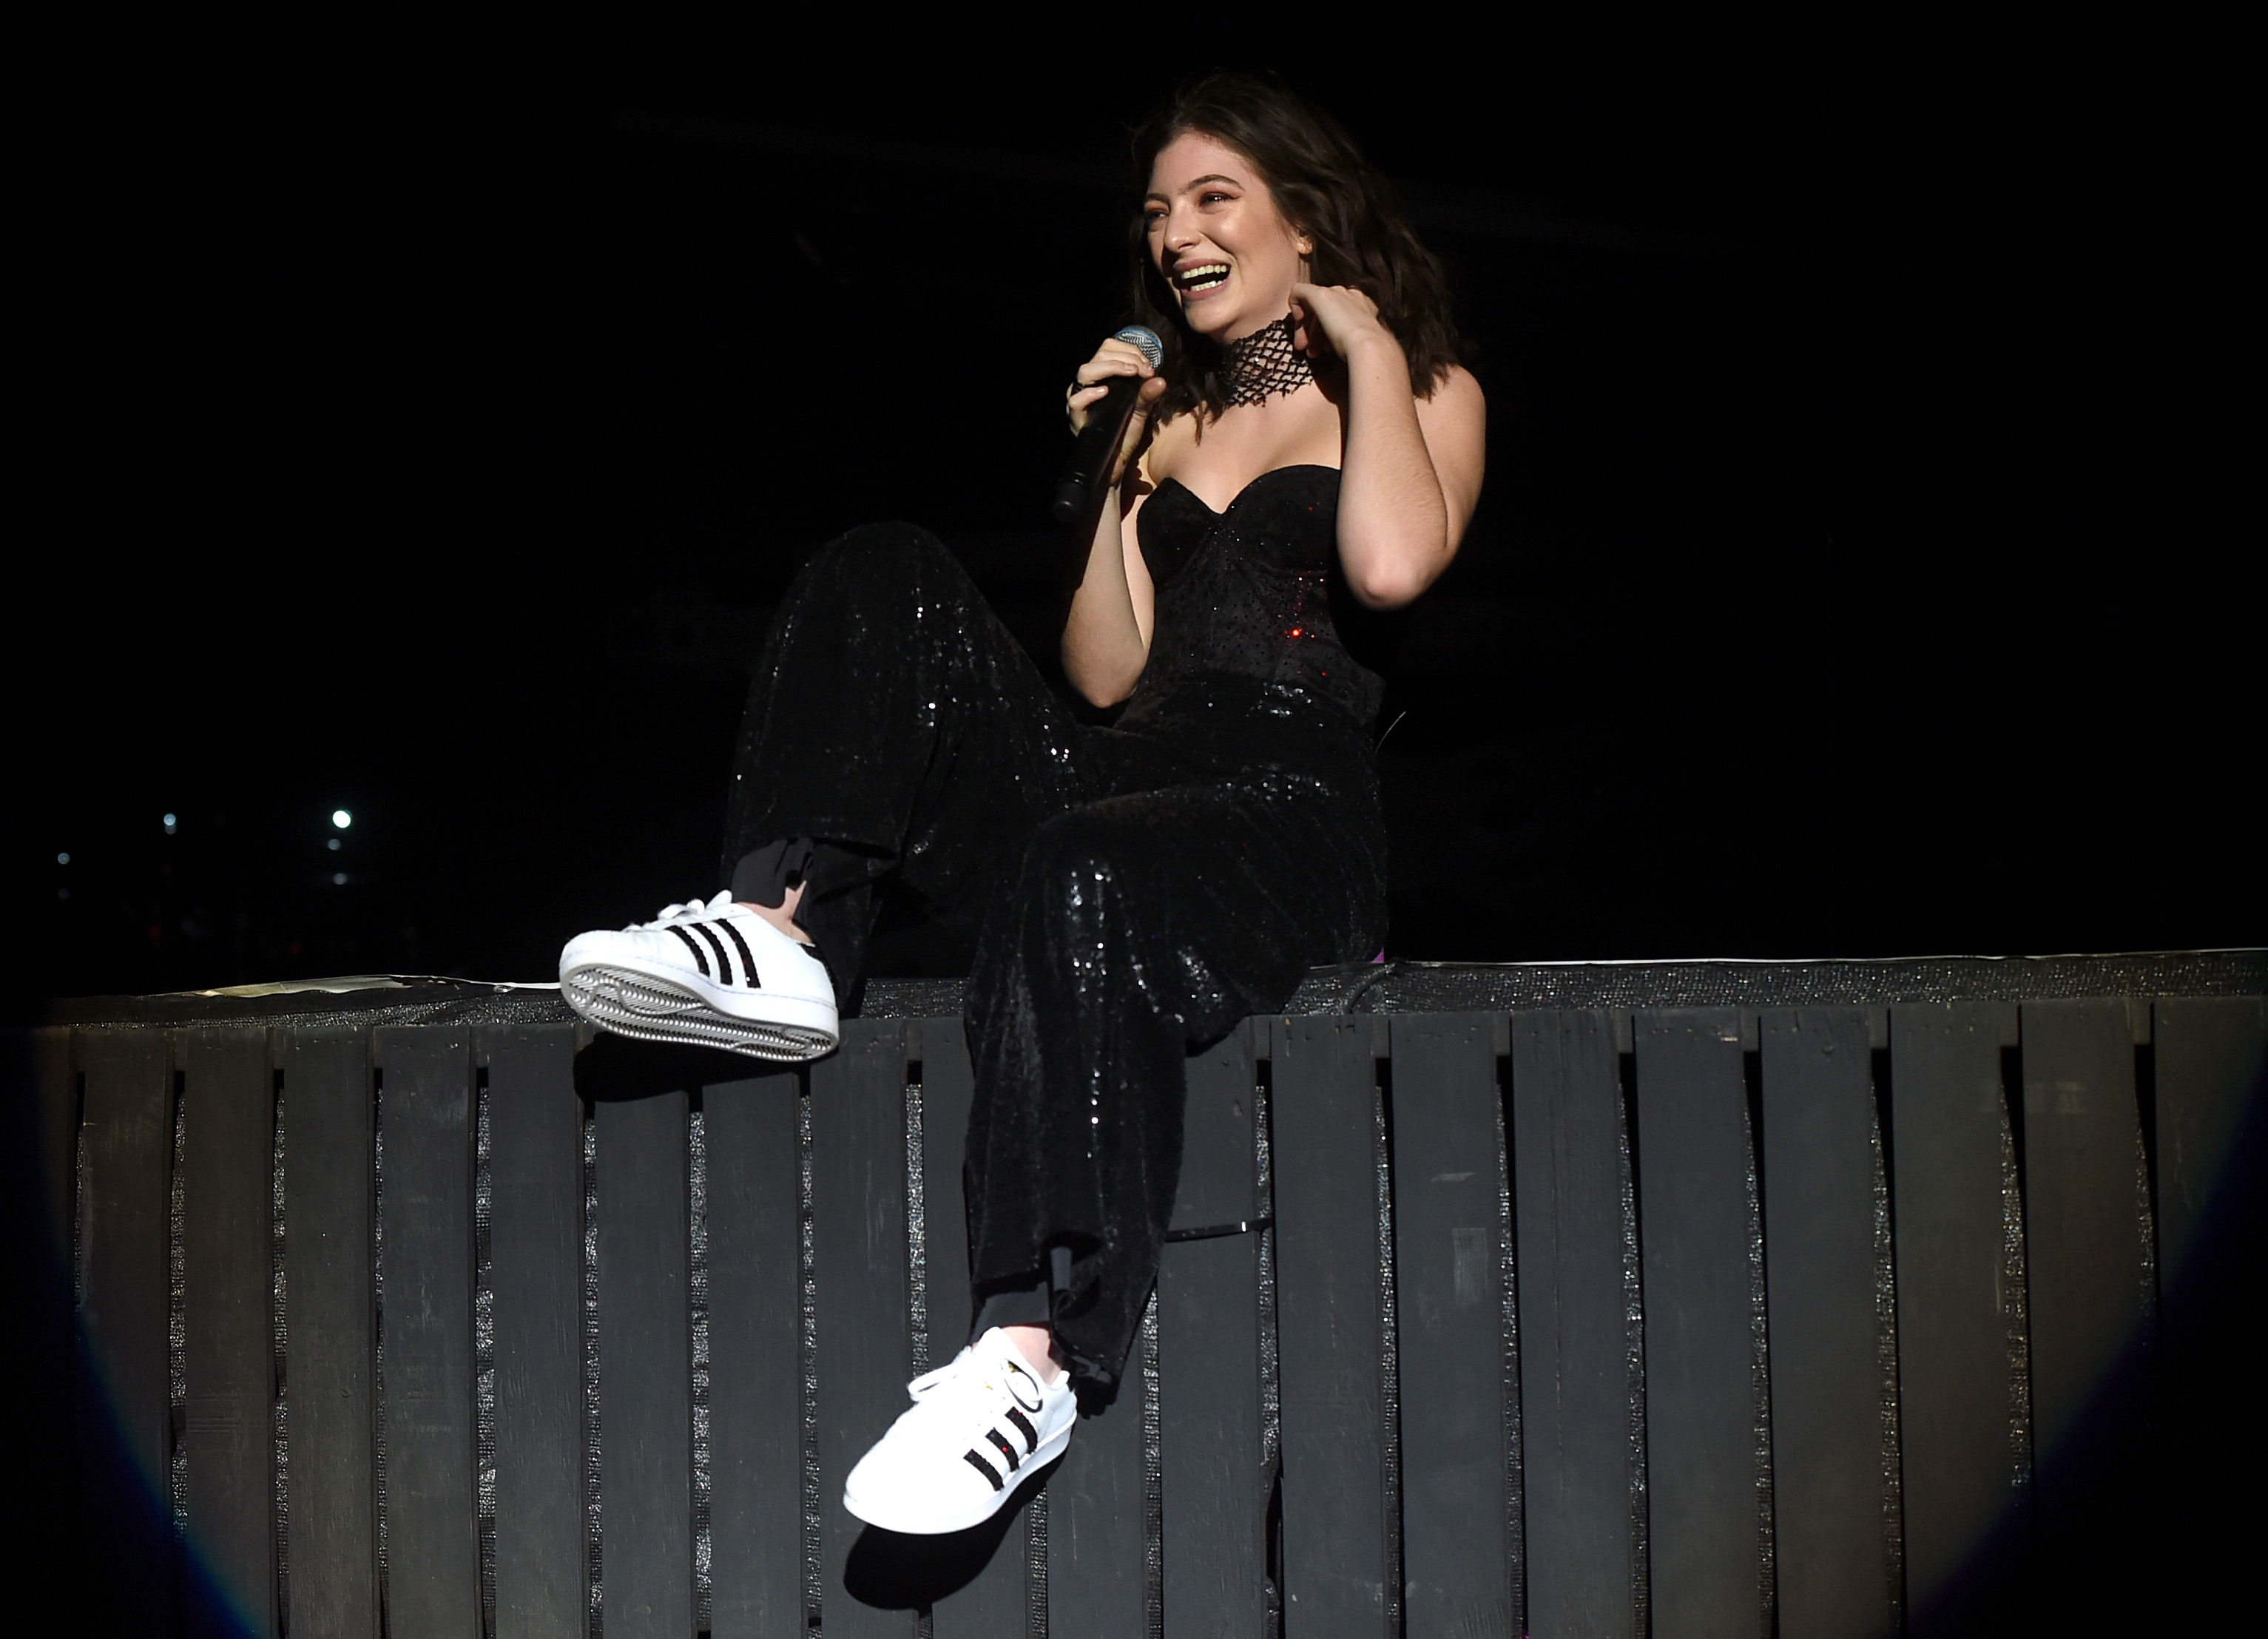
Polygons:
<instances>
[{"instance_id":1,"label":"woman's bare arm and hand holding the microphone","mask_svg":"<svg viewBox=\"0 0 2268 1639\"><path fill-rule=\"evenodd\" d=\"M1150 662L1150 626L1157 612L1157 592L1136 540L1136 517L1150 485L1139 467L1127 472L1127 456L1141 447L1150 406L1166 392L1163 379L1127 342L1118 338L1102 342L1095 356L1080 365L1080 388L1068 401L1070 431L1086 426L1086 413L1102 401L1102 390L1114 376L1145 376L1145 381L1134 415L1127 417L1127 435L1111 467L1095 533L1086 542L1080 587L1070 594L1070 619L1064 621L1064 676L1093 705L1118 705L1134 694Z\"/></svg>"}]
</instances>

